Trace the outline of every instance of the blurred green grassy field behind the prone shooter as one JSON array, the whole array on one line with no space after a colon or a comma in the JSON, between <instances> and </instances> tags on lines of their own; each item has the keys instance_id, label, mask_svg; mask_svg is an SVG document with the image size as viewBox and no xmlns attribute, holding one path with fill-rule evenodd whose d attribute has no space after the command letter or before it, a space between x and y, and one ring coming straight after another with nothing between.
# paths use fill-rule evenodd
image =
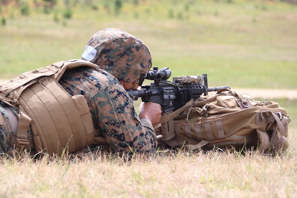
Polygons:
<instances>
[{"instance_id":1,"label":"blurred green grassy field behind the prone shooter","mask_svg":"<svg viewBox=\"0 0 297 198\"><path fill-rule=\"evenodd\" d=\"M80 58L91 36L110 27L142 39L153 66L169 67L172 77L207 73L210 87L296 89L297 0L0 0L0 4L2 79ZM274 101L297 114L296 100Z\"/></svg>"}]
</instances>

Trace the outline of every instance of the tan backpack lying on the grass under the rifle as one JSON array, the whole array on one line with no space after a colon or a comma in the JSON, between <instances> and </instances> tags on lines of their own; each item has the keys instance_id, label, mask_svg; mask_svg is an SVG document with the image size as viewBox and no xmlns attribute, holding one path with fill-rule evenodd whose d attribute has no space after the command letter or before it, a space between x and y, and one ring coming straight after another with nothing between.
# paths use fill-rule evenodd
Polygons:
<instances>
[{"instance_id":1,"label":"tan backpack lying on the grass under the rifle","mask_svg":"<svg viewBox=\"0 0 297 198\"><path fill-rule=\"evenodd\" d=\"M172 116L165 115L161 122L170 118ZM169 147L188 150L253 148L261 153L277 153L289 146L289 121L286 109L276 102L254 101L247 94L221 89L215 95L189 102L173 119L170 132L162 129L161 124L154 129L159 145L165 143Z\"/></svg>"}]
</instances>

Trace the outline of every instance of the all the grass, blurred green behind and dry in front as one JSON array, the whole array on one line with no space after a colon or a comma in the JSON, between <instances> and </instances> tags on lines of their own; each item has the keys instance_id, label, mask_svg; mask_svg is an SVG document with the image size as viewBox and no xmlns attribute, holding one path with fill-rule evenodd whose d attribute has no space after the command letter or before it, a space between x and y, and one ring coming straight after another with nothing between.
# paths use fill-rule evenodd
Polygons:
<instances>
[{"instance_id":1,"label":"all the grass, blurred green behind and dry in front","mask_svg":"<svg viewBox=\"0 0 297 198\"><path fill-rule=\"evenodd\" d=\"M22 14L26 2L28 15ZM169 67L172 76L207 73L209 86L234 90L296 89L296 4L122 0L116 11L115 0L57 0L45 14L44 2L1 1L0 79L80 58L95 32L112 27L143 39L153 66ZM292 120L290 147L282 156L209 152L129 162L106 155L1 160L0 197L296 197L297 99L269 100L285 107Z\"/></svg>"}]
</instances>

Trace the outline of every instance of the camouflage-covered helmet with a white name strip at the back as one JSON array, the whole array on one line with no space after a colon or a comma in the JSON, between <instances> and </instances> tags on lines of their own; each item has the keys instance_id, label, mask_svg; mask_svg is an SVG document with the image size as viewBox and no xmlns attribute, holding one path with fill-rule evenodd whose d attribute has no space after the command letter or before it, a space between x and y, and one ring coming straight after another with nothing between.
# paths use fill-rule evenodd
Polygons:
<instances>
[{"instance_id":1,"label":"camouflage-covered helmet with a white name strip at the back","mask_svg":"<svg viewBox=\"0 0 297 198\"><path fill-rule=\"evenodd\" d=\"M134 82L151 69L151 53L137 37L114 28L96 32L81 55L118 80Z\"/></svg>"}]
</instances>

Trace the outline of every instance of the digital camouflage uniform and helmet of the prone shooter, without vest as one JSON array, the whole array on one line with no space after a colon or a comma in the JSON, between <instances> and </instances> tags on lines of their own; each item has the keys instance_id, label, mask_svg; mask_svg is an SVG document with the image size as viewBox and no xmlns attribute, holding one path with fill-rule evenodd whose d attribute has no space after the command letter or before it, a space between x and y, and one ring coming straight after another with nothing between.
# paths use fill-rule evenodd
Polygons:
<instances>
[{"instance_id":1,"label":"digital camouflage uniform and helmet of the prone shooter, without vest","mask_svg":"<svg viewBox=\"0 0 297 198\"><path fill-rule=\"evenodd\" d=\"M151 123L139 119L133 99L118 81L134 82L140 74L149 72L152 63L148 47L127 32L108 28L92 36L82 58L101 69L86 66L72 69L64 73L59 83L71 96L80 94L86 98L95 136L105 138L113 151L155 152L157 138ZM18 117L18 109L11 109ZM0 110L0 152L6 153L13 133L7 112L1 106ZM32 137L29 127L28 150L34 154Z\"/></svg>"}]
</instances>

